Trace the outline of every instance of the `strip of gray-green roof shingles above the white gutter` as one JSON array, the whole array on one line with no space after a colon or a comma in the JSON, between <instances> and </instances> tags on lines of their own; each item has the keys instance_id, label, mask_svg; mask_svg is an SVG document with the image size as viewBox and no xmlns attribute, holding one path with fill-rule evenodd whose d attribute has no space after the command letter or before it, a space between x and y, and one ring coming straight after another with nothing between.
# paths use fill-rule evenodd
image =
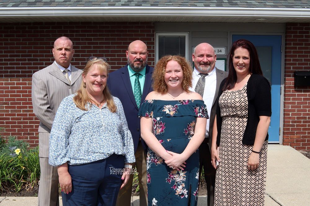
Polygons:
<instances>
[{"instance_id":1,"label":"strip of gray-green roof shingles above the white gutter","mask_svg":"<svg viewBox=\"0 0 310 206\"><path fill-rule=\"evenodd\" d=\"M0 7L40 6L175 6L310 8L310 1L293 0L2 0Z\"/></svg>"}]
</instances>

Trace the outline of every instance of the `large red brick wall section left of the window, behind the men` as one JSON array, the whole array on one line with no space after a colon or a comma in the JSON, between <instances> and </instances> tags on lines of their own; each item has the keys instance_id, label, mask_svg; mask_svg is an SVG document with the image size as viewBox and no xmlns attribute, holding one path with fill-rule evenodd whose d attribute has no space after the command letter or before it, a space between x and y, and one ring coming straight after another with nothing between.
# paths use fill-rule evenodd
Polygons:
<instances>
[{"instance_id":1,"label":"large red brick wall section left of the window, behind the men","mask_svg":"<svg viewBox=\"0 0 310 206\"><path fill-rule=\"evenodd\" d=\"M31 103L31 77L53 61L51 49L68 36L75 49L72 65L83 69L87 57L106 57L111 69L126 65L126 50L134 40L148 45L148 65L154 66L155 32L151 22L51 22L0 25L0 127L2 135L38 144L38 119Z\"/></svg>"}]
</instances>

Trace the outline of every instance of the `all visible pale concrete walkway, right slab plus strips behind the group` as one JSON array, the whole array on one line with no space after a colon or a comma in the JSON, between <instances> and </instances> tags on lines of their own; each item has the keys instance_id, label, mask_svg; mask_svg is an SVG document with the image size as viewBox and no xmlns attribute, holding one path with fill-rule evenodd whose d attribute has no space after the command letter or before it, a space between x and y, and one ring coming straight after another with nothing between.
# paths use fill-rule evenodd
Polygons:
<instances>
[{"instance_id":1,"label":"all visible pale concrete walkway, right slab plus strips behind the group","mask_svg":"<svg viewBox=\"0 0 310 206\"><path fill-rule=\"evenodd\" d=\"M310 205L310 159L290 146L268 145L267 164L266 206ZM36 206L37 202L38 197L0 197L0 206ZM131 202L139 206L139 197ZM199 196L198 206L206 205L206 196Z\"/></svg>"}]
</instances>

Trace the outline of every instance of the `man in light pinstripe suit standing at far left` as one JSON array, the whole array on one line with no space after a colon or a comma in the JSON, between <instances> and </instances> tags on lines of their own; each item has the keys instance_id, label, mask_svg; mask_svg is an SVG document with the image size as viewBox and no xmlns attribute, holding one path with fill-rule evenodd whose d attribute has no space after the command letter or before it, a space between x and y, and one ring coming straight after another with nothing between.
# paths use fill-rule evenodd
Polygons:
<instances>
[{"instance_id":1,"label":"man in light pinstripe suit standing at far left","mask_svg":"<svg viewBox=\"0 0 310 206\"><path fill-rule=\"evenodd\" d=\"M74 49L68 37L62 36L55 40L52 52L54 63L32 76L33 112L40 120L39 206L59 205L57 168L48 164L49 135L60 102L75 93L82 81L82 70L71 65Z\"/></svg>"}]
</instances>

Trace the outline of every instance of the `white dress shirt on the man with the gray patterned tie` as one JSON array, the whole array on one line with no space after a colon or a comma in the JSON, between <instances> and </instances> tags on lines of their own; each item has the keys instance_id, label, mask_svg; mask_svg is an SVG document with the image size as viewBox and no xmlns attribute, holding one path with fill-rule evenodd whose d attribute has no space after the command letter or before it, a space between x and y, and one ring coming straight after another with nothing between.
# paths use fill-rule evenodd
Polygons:
<instances>
[{"instance_id":1,"label":"white dress shirt on the man with the gray patterned tie","mask_svg":"<svg viewBox=\"0 0 310 206\"><path fill-rule=\"evenodd\" d=\"M200 72L197 71L196 68L194 68L193 71L193 87L189 88L190 91L195 91L195 87L197 85L198 79L201 77L199 75ZM210 117L212 103L215 95L216 90L216 71L215 68L208 73L208 75L205 77L206 83L205 83L205 89L203 91L203 101L205 102L207 106L208 115ZM206 135L205 137L209 137L209 127L210 127L210 121L207 121L206 125Z\"/></svg>"}]
</instances>

